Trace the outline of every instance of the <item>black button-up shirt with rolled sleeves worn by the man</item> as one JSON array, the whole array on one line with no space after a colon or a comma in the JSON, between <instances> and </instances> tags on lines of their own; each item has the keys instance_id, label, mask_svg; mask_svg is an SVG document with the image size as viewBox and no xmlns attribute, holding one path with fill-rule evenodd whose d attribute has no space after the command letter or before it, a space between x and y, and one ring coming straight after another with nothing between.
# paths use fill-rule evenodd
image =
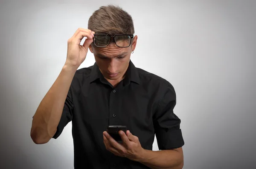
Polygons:
<instances>
[{"instance_id":1,"label":"black button-up shirt with rolled sleeves worn by the man","mask_svg":"<svg viewBox=\"0 0 256 169\"><path fill-rule=\"evenodd\" d=\"M75 169L148 169L142 163L106 150L103 132L111 125L125 125L143 149L184 145L180 119L174 114L176 93L165 79L129 63L125 78L113 87L95 63L76 71L53 138L72 121Z\"/></svg>"}]
</instances>

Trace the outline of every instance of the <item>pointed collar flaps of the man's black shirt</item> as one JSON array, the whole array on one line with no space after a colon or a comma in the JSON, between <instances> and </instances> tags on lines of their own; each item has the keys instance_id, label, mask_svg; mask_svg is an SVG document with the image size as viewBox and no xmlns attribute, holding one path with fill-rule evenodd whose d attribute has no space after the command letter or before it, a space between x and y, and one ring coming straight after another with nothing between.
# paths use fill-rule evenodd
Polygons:
<instances>
[{"instance_id":1,"label":"pointed collar flaps of the man's black shirt","mask_svg":"<svg viewBox=\"0 0 256 169\"><path fill-rule=\"evenodd\" d=\"M92 83L93 81L95 81L99 78L101 79L104 77L103 77L102 73L100 72L98 65L95 62L92 67L91 73L90 73L90 83ZM140 84L140 77L139 77L137 68L134 66L134 64L131 62L131 60L129 62L128 69L125 72L124 85L130 83L130 81Z\"/></svg>"}]
</instances>

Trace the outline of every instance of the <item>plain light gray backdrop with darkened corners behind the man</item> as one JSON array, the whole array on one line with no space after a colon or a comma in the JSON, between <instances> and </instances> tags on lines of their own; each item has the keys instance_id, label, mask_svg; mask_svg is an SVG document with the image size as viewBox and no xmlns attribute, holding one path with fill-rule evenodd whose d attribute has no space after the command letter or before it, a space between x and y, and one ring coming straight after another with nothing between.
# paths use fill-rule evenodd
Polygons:
<instances>
[{"instance_id":1,"label":"plain light gray backdrop with darkened corners behind the man","mask_svg":"<svg viewBox=\"0 0 256 169\"><path fill-rule=\"evenodd\" d=\"M256 168L252 0L2 0L0 168L73 168L71 123L57 140L36 145L32 116L61 71L67 40L77 28L87 28L93 11L110 3L134 19L135 66L175 87L184 169ZM79 69L93 63L89 52Z\"/></svg>"}]
</instances>

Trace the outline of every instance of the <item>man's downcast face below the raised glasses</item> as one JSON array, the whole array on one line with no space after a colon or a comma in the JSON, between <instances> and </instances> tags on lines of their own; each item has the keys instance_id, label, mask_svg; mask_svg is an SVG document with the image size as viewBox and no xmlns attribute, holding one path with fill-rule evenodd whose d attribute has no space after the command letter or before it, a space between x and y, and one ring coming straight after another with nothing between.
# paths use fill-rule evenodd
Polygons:
<instances>
[{"instance_id":1,"label":"man's downcast face below the raised glasses","mask_svg":"<svg viewBox=\"0 0 256 169\"><path fill-rule=\"evenodd\" d=\"M125 74L137 43L137 36L134 37L131 46L120 48L111 42L107 47L98 48L90 46L90 51L94 54L95 61L100 71L107 80L120 80Z\"/></svg>"}]
</instances>

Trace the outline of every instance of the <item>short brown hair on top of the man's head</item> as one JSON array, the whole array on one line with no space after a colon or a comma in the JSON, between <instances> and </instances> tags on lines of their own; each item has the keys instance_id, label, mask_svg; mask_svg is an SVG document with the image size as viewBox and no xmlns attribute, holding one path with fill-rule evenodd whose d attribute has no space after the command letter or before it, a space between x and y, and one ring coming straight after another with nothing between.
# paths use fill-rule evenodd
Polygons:
<instances>
[{"instance_id":1,"label":"short brown hair on top of the man's head","mask_svg":"<svg viewBox=\"0 0 256 169\"><path fill-rule=\"evenodd\" d=\"M101 6L88 21L88 29L97 34L134 34L134 23L130 14L119 6Z\"/></svg>"}]
</instances>

